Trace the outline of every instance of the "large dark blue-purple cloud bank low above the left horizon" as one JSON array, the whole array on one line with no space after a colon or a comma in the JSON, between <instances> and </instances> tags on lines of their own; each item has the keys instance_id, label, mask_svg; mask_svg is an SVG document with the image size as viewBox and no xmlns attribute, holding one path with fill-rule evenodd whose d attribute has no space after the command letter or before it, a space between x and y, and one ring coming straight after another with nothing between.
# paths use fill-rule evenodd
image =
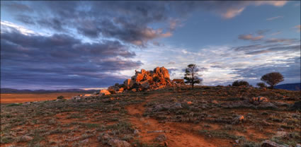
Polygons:
<instances>
[{"instance_id":1,"label":"large dark blue-purple cloud bank low above the left horizon","mask_svg":"<svg viewBox=\"0 0 301 147\"><path fill-rule=\"evenodd\" d=\"M1 33L1 83L5 86L110 86L127 77L109 73L142 65L132 61L135 53L118 41L84 43L69 35L23 35L11 30Z\"/></svg>"}]
</instances>

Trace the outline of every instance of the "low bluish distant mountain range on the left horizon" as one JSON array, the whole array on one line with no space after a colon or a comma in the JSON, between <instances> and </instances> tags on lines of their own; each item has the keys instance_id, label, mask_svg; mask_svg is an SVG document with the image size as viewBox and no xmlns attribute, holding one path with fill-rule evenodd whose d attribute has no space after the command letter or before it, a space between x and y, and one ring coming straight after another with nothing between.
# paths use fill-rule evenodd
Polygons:
<instances>
[{"instance_id":1,"label":"low bluish distant mountain range on the left horizon","mask_svg":"<svg viewBox=\"0 0 301 147\"><path fill-rule=\"evenodd\" d=\"M94 93L99 90L83 89L61 89L61 90L18 90L12 88L1 88L1 93Z\"/></svg>"}]
</instances>

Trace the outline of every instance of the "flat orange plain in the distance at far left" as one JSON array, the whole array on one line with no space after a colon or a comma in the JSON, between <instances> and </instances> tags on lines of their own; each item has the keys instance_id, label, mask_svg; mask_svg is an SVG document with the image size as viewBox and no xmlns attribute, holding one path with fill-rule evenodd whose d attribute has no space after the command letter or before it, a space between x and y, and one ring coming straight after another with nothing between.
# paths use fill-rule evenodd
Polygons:
<instances>
[{"instance_id":1,"label":"flat orange plain in the distance at far left","mask_svg":"<svg viewBox=\"0 0 301 147\"><path fill-rule=\"evenodd\" d=\"M84 93L1 93L1 103L35 102L42 100L56 100L57 96L63 95L70 99Z\"/></svg>"}]
</instances>

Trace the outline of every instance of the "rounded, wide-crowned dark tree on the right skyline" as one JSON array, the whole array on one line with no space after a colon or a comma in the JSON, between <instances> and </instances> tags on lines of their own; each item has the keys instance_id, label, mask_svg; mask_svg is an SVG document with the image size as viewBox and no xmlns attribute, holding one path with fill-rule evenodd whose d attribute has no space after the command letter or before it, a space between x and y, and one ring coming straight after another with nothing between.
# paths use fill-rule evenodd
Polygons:
<instances>
[{"instance_id":1,"label":"rounded, wide-crowned dark tree on the right skyline","mask_svg":"<svg viewBox=\"0 0 301 147\"><path fill-rule=\"evenodd\" d=\"M261 76L261 81L266 82L273 89L278 83L284 81L284 78L281 73L273 72Z\"/></svg>"}]
</instances>

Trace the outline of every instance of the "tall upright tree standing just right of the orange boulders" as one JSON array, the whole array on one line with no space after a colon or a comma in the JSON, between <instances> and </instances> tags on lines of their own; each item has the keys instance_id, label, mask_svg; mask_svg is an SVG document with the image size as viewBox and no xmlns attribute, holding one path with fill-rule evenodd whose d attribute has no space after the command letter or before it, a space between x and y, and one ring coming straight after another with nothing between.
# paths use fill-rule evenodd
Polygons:
<instances>
[{"instance_id":1,"label":"tall upright tree standing just right of the orange boulders","mask_svg":"<svg viewBox=\"0 0 301 147\"><path fill-rule=\"evenodd\" d=\"M200 69L198 69L198 66L195 64L189 64L185 69L185 83L190 83L192 88L195 83L201 83L203 81L203 79L198 78L198 71L200 71Z\"/></svg>"}]
</instances>

